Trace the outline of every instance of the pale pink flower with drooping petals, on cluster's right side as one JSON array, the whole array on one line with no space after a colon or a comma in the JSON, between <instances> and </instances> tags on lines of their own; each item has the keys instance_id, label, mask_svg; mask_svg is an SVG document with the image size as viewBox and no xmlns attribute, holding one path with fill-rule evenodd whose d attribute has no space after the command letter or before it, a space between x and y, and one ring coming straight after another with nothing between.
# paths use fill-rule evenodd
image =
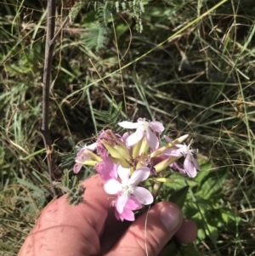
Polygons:
<instances>
[{"instance_id":1,"label":"pale pink flower with drooping petals, on cluster's right side","mask_svg":"<svg viewBox=\"0 0 255 256\"><path fill-rule=\"evenodd\" d=\"M174 145L177 147L177 149L170 149L164 151L165 155L167 156L184 156L184 172L190 176L190 178L194 178L196 175L196 170L200 170L200 166L198 162L195 160L193 153L197 152L196 149L191 149L190 145L192 144L192 141L189 145L182 145L182 144L176 144ZM177 166L175 166L177 167ZM183 172L181 168L178 168L180 172Z\"/></svg>"}]
</instances>

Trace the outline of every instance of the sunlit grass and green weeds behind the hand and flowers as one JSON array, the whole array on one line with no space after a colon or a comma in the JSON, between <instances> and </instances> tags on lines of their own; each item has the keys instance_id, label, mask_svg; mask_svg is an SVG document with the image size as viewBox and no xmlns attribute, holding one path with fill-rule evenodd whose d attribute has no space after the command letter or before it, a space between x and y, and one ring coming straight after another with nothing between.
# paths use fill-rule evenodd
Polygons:
<instances>
[{"instance_id":1,"label":"sunlit grass and green weeds behind the hand and flowers","mask_svg":"<svg viewBox=\"0 0 255 256\"><path fill-rule=\"evenodd\" d=\"M164 122L173 139L192 135L200 150L200 174L161 191L190 185L184 215L199 234L181 253L254 255L254 0L58 3L56 31L73 19L55 39L53 152L39 133L47 3L0 3L1 255L17 254L53 187L77 182L76 145L137 117Z\"/></svg>"}]
</instances>

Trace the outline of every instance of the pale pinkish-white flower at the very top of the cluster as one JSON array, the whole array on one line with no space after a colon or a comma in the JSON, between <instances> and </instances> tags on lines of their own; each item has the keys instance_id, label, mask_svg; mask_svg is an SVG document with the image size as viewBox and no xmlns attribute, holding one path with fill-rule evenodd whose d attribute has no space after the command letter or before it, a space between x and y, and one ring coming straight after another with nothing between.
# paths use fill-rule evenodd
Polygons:
<instances>
[{"instance_id":1,"label":"pale pinkish-white flower at the very top of the cluster","mask_svg":"<svg viewBox=\"0 0 255 256\"><path fill-rule=\"evenodd\" d=\"M136 129L136 131L127 138L127 146L133 146L146 135L146 139L150 148L156 150L159 146L158 134L165 129L161 122L147 122L145 118L139 118L137 122L119 122L119 126L127 129Z\"/></svg>"}]
</instances>

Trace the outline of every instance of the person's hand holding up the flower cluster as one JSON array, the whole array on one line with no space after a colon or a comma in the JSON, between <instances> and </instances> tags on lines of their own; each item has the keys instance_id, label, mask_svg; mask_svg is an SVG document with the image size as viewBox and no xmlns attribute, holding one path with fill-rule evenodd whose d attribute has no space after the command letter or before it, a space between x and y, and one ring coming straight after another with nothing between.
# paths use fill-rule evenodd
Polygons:
<instances>
[{"instance_id":1,"label":"person's hand holding up the flower cluster","mask_svg":"<svg viewBox=\"0 0 255 256\"><path fill-rule=\"evenodd\" d=\"M49 203L18 256L160 255L173 236L195 239L196 226L172 202L160 202L133 222L120 221L99 175L84 182L86 203L70 206L66 196Z\"/></svg>"}]
</instances>

